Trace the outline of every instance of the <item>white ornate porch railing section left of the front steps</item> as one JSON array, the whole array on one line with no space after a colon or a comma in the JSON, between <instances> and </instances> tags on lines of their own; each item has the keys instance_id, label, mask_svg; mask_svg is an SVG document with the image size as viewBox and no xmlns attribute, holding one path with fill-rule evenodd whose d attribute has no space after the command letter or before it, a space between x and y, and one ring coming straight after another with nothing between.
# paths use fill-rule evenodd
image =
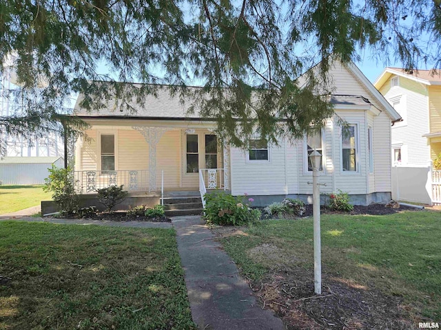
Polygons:
<instances>
[{"instance_id":1,"label":"white ornate porch railing section left of the front steps","mask_svg":"<svg viewBox=\"0 0 441 330\"><path fill-rule=\"evenodd\" d=\"M74 184L76 191L82 193L121 184L127 191L152 191L149 170L75 170Z\"/></svg>"}]
</instances>

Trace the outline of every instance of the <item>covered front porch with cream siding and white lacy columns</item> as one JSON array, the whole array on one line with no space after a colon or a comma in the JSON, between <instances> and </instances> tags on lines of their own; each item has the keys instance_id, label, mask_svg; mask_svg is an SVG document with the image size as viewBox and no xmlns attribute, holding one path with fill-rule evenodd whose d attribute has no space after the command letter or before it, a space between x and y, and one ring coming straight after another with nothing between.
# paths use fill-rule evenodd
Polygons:
<instances>
[{"instance_id":1,"label":"covered front porch with cream siding and white lacy columns","mask_svg":"<svg viewBox=\"0 0 441 330\"><path fill-rule=\"evenodd\" d=\"M121 122L121 121L120 121ZM207 126L96 120L76 142L74 183L90 194L123 185L129 192L230 189L229 148Z\"/></svg>"}]
</instances>

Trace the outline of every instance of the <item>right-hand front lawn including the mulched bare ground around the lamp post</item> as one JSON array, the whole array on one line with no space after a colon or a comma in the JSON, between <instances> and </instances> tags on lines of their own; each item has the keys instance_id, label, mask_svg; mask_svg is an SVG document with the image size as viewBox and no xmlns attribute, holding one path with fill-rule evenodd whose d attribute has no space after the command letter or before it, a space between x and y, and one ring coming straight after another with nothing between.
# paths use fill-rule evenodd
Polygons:
<instances>
[{"instance_id":1,"label":"right-hand front lawn including the mulched bare ground around the lamp post","mask_svg":"<svg viewBox=\"0 0 441 330\"><path fill-rule=\"evenodd\" d=\"M312 223L270 220L242 231L218 230L260 300L293 329L304 329L302 322L305 329L380 329L393 319L398 323L384 329L407 329L399 318L416 328L415 322L441 320L440 212L322 216L323 295L329 296L320 299L307 298L314 296ZM292 309L298 313L289 319Z\"/></svg>"}]
</instances>

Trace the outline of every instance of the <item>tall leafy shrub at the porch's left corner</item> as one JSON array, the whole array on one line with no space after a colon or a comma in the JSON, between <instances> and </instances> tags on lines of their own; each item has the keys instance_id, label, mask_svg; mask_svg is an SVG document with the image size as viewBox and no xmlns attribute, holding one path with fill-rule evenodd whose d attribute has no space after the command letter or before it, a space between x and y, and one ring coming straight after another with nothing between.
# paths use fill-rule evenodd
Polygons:
<instances>
[{"instance_id":1,"label":"tall leafy shrub at the porch's left corner","mask_svg":"<svg viewBox=\"0 0 441 330\"><path fill-rule=\"evenodd\" d=\"M44 179L43 190L52 192L52 199L59 206L61 214L72 214L79 208L79 197L74 188L74 173L70 167L49 168L49 177Z\"/></svg>"}]
</instances>

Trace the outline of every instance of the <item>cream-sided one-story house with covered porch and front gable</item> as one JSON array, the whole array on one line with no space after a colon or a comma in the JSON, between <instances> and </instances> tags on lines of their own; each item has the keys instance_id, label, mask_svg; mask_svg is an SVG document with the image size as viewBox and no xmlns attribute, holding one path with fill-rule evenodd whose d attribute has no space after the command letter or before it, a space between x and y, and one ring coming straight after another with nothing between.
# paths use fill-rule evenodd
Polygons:
<instances>
[{"instance_id":1,"label":"cream-sided one-story house with covered porch and front gable","mask_svg":"<svg viewBox=\"0 0 441 330\"><path fill-rule=\"evenodd\" d=\"M311 201L312 170L308 155L322 153L322 193L348 192L352 203L366 205L391 199L391 124L400 115L353 63L335 63L331 97L336 114L349 123L349 135L329 118L321 133L278 146L252 140L243 151L221 145L214 122L160 89L147 96L133 115L107 108L88 112L76 102L74 112L90 124L89 139L76 142L75 175L83 192L123 184L132 192L194 192L211 188L254 198L265 206L285 197ZM79 97L81 100L81 96Z\"/></svg>"}]
</instances>

